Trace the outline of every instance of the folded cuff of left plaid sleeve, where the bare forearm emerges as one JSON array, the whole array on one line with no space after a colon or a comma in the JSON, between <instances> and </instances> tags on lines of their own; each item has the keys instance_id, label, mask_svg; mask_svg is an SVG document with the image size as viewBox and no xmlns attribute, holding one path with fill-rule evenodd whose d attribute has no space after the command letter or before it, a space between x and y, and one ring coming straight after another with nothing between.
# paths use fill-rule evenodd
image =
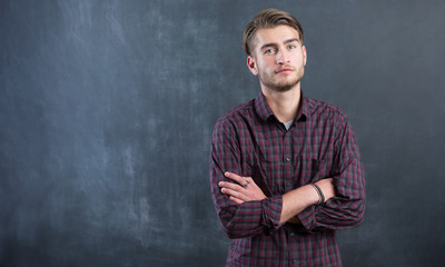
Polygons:
<instances>
[{"instance_id":1,"label":"folded cuff of left plaid sleeve, where the bare forearm emerges","mask_svg":"<svg viewBox=\"0 0 445 267\"><path fill-rule=\"evenodd\" d=\"M269 197L261 200L261 222L268 229L278 229L281 218L283 197Z\"/></svg>"}]
</instances>

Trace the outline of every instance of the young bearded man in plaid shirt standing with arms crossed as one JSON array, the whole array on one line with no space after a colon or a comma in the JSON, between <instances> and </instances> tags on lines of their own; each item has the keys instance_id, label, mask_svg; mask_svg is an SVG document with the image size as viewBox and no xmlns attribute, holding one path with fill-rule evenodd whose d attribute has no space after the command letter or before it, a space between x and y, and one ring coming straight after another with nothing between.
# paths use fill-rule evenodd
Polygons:
<instances>
[{"instance_id":1,"label":"young bearded man in plaid shirt standing with arms crossed","mask_svg":"<svg viewBox=\"0 0 445 267\"><path fill-rule=\"evenodd\" d=\"M233 239L227 266L342 266L335 230L364 216L365 181L346 115L306 98L303 29L267 9L244 46L259 96L216 123L212 200Z\"/></svg>"}]
</instances>

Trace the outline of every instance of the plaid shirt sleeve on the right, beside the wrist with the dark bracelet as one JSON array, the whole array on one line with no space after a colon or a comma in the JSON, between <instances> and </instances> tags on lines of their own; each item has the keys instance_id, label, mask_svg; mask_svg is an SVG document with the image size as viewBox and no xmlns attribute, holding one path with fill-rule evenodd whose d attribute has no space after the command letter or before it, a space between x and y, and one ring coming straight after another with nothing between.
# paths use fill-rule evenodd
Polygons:
<instances>
[{"instance_id":1,"label":"plaid shirt sleeve on the right, beside the wrist with the dark bracelet","mask_svg":"<svg viewBox=\"0 0 445 267\"><path fill-rule=\"evenodd\" d=\"M364 218L365 177L357 140L347 118L339 119L337 129L332 168L336 197L298 215L308 231L349 228Z\"/></svg>"}]
</instances>

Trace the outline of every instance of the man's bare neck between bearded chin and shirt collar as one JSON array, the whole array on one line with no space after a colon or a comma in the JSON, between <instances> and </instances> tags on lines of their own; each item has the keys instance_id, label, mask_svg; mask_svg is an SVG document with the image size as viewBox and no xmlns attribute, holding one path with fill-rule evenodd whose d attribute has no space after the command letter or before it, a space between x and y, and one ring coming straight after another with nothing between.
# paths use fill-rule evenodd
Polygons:
<instances>
[{"instance_id":1,"label":"man's bare neck between bearded chin and shirt collar","mask_svg":"<svg viewBox=\"0 0 445 267\"><path fill-rule=\"evenodd\" d=\"M277 117L279 121L287 122L295 119L301 98L299 83L285 92L274 91L265 87L261 87L261 91L271 111L274 111L275 117Z\"/></svg>"}]
</instances>

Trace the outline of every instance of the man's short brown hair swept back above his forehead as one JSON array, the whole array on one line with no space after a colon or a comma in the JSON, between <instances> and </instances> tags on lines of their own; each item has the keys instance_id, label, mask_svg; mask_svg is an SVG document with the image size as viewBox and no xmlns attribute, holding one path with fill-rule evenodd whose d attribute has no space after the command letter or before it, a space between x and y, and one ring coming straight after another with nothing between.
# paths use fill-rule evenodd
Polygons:
<instances>
[{"instance_id":1,"label":"man's short brown hair swept back above his forehead","mask_svg":"<svg viewBox=\"0 0 445 267\"><path fill-rule=\"evenodd\" d=\"M255 16L254 20L247 24L244 30L243 44L248 56L251 56L250 44L259 29L270 29L277 26L289 26L298 31L300 41L303 42L303 28L298 20L286 11L278 9L265 9Z\"/></svg>"}]
</instances>

